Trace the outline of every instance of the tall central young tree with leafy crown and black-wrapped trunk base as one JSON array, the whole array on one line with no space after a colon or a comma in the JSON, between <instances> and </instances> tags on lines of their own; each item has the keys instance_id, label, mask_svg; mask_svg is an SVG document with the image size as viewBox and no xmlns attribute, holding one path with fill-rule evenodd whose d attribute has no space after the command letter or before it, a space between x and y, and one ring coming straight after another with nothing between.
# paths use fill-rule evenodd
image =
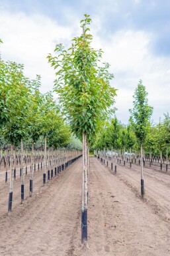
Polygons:
<instances>
[{"instance_id":1,"label":"tall central young tree with leafy crown and black-wrapped trunk base","mask_svg":"<svg viewBox=\"0 0 170 256\"><path fill-rule=\"evenodd\" d=\"M99 121L105 120L114 103L116 91L110 86L113 74L109 64L99 66L102 51L91 47L92 35L88 33L91 19L85 15L81 20L83 33L75 37L69 49L56 45L57 57L48 56L56 71L55 91L69 119L72 131L83 138L83 194L82 194L82 243L87 243L87 167L88 147Z\"/></svg>"}]
</instances>

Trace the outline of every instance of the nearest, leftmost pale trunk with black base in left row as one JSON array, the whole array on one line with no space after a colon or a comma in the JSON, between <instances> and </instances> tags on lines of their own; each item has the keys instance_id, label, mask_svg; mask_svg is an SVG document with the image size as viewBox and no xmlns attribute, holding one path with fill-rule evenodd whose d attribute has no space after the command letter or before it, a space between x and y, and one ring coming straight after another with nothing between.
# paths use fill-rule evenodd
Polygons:
<instances>
[{"instance_id":1,"label":"nearest, leftmost pale trunk with black base in left row","mask_svg":"<svg viewBox=\"0 0 170 256\"><path fill-rule=\"evenodd\" d=\"M11 166L10 166L10 185L9 185L9 205L8 211L9 213L12 211L12 204L13 204L13 144L11 144Z\"/></svg>"}]
</instances>

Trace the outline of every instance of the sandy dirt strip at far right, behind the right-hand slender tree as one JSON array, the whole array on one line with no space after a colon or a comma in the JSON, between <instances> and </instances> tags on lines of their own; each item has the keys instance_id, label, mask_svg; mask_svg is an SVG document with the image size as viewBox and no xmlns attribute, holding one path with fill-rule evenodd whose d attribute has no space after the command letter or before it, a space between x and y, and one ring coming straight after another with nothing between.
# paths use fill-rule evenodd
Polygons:
<instances>
[{"instance_id":1,"label":"sandy dirt strip at far right, behind the right-hand slender tree","mask_svg":"<svg viewBox=\"0 0 170 256\"><path fill-rule=\"evenodd\" d=\"M127 166L117 166L117 176L136 195L140 195L140 166L132 164L132 168ZM161 217L167 221L170 227L170 176L163 172L144 168L144 183L146 198L145 201Z\"/></svg>"}]
</instances>

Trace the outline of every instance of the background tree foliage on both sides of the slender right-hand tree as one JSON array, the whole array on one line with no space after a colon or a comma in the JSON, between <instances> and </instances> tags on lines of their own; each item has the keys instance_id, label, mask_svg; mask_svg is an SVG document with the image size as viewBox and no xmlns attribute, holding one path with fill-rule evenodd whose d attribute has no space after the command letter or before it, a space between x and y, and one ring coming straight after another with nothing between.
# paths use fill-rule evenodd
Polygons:
<instances>
[{"instance_id":1,"label":"background tree foliage on both sides of the slender right-hand tree","mask_svg":"<svg viewBox=\"0 0 170 256\"><path fill-rule=\"evenodd\" d=\"M157 156L160 159L169 158L170 155L170 116L164 114L165 118L158 124L151 122L146 134L144 143L144 153L149 156ZM91 150L113 148L118 153L124 154L124 151L130 152L130 149L136 156L140 152L140 144L132 125L122 124L116 116L105 122L102 128L97 132L92 144Z\"/></svg>"}]
</instances>

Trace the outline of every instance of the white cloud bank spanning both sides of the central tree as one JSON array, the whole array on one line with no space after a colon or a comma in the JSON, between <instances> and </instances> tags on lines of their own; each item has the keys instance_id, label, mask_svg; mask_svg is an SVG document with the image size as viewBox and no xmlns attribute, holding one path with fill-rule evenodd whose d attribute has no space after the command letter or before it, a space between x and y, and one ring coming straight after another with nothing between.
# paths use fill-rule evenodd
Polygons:
<instances>
[{"instance_id":1,"label":"white cloud bank spanning both sides of the central tree","mask_svg":"<svg viewBox=\"0 0 170 256\"><path fill-rule=\"evenodd\" d=\"M78 35L79 21L75 17L75 26L64 27L42 15L23 13L0 15L0 38L3 59L23 63L25 74L34 78L42 76L42 91L52 90L54 70L46 59L48 53L54 52L56 43L70 43L74 35ZM153 119L159 121L159 116L170 109L170 70L168 57L154 57L149 50L152 35L144 31L117 31L105 41L97 35L101 29L99 17L92 23L94 35L93 47L102 48L105 52L104 61L111 64L114 73L113 86L118 88L116 97L116 113L122 122L127 122L128 109L132 108L132 95L140 78L149 92L149 104L154 107Z\"/></svg>"}]
</instances>

